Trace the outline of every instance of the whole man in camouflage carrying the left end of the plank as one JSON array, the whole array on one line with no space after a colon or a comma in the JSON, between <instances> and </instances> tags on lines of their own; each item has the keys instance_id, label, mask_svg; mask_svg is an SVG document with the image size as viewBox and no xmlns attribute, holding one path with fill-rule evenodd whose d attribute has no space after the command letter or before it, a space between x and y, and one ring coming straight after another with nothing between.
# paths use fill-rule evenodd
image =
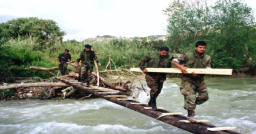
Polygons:
<instances>
[{"instance_id":1,"label":"whole man in camouflage carrying the left end of the plank","mask_svg":"<svg viewBox=\"0 0 256 134\"><path fill-rule=\"evenodd\" d=\"M166 80L166 73L150 73L145 68L169 68L171 67L172 56L169 54L169 48L162 46L158 52L148 54L141 58L139 68L146 73L145 79L147 86L150 87L150 101L148 105L152 110L157 110L156 98L161 93L162 86ZM145 63L147 63L145 67Z\"/></svg>"}]
</instances>

